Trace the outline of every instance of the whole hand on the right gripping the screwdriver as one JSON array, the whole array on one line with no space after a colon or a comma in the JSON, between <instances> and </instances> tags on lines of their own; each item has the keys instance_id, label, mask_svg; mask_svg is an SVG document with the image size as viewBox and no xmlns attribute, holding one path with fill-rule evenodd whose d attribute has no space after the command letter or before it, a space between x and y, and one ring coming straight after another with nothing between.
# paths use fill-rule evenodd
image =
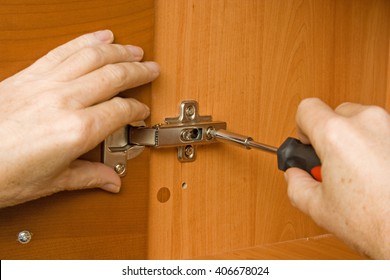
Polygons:
<instances>
[{"instance_id":1,"label":"whole hand on the right gripping the screwdriver","mask_svg":"<svg viewBox=\"0 0 390 280\"><path fill-rule=\"evenodd\" d=\"M390 258L390 117L352 103L333 111L318 99L297 112L300 139L322 162L322 183L286 172L291 202L320 226L373 258Z\"/></svg>"}]
</instances>

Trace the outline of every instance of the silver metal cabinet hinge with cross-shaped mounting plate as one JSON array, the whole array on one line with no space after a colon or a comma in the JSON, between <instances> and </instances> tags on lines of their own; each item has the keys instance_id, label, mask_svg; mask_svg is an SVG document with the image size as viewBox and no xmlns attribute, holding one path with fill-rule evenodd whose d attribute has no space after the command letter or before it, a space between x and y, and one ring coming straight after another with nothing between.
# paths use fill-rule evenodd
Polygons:
<instances>
[{"instance_id":1,"label":"silver metal cabinet hinge with cross-shaped mounting plate","mask_svg":"<svg viewBox=\"0 0 390 280\"><path fill-rule=\"evenodd\" d=\"M120 175L126 175L127 160L140 155L145 147L177 147L181 162L196 159L196 145L212 144L217 140L212 132L226 129L226 122L214 122L211 116L200 116L198 102L183 101L179 116L166 118L164 124L145 127L145 123L125 126L104 141L103 162Z\"/></svg>"}]
</instances>

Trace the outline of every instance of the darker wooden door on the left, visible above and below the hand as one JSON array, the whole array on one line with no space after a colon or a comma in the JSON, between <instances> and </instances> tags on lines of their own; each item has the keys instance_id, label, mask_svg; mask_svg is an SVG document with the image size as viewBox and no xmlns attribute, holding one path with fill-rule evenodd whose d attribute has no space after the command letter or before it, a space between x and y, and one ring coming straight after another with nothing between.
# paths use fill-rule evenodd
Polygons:
<instances>
[{"instance_id":1,"label":"darker wooden door on the left, visible above and below the hand","mask_svg":"<svg viewBox=\"0 0 390 280\"><path fill-rule=\"evenodd\" d=\"M106 28L113 30L116 42L140 45L151 59L153 7L153 0L2 1L0 80L61 43ZM124 94L149 103L150 87ZM0 258L146 258L148 158L146 152L129 162L118 195L101 190L61 193L1 209ZM27 245L16 241L21 230L34 234Z\"/></svg>"}]
</instances>

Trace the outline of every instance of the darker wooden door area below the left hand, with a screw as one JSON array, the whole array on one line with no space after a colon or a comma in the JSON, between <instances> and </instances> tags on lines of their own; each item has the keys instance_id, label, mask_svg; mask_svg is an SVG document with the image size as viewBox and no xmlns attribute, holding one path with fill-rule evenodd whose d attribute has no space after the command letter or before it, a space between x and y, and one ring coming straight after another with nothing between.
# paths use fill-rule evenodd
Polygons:
<instances>
[{"instance_id":1,"label":"darker wooden door area below the left hand, with a screw","mask_svg":"<svg viewBox=\"0 0 390 280\"><path fill-rule=\"evenodd\" d=\"M0 210L1 259L144 259L148 154L133 160L119 194L67 192ZM130 173L130 174L131 174ZM32 241L17 242L29 230Z\"/></svg>"}]
</instances>

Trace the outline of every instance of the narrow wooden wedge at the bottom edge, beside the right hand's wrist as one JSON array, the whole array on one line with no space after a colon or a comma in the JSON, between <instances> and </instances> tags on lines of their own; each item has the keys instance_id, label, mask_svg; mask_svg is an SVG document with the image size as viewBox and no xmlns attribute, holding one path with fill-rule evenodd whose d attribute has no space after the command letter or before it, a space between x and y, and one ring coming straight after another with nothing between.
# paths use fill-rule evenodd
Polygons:
<instances>
[{"instance_id":1,"label":"narrow wooden wedge at the bottom edge, beside the right hand's wrist","mask_svg":"<svg viewBox=\"0 0 390 280\"><path fill-rule=\"evenodd\" d=\"M364 256L352 251L347 245L331 235L305 238L259 247L205 256L200 259L213 260L363 260Z\"/></svg>"}]
</instances>

